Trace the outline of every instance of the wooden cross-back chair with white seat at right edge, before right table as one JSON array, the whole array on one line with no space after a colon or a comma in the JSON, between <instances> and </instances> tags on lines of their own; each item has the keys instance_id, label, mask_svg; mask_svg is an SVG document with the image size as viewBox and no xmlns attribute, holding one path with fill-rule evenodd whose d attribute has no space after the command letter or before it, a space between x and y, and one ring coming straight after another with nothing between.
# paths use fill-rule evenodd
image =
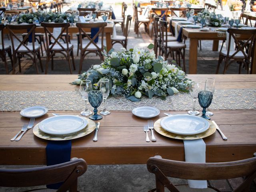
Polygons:
<instances>
[{"instance_id":1,"label":"wooden cross-back chair with white seat at right edge, before right table","mask_svg":"<svg viewBox=\"0 0 256 192\"><path fill-rule=\"evenodd\" d=\"M224 70L223 74L226 73L226 70L233 62L239 64L239 74L241 73L242 64L244 64L247 74L249 74L250 67L250 57L252 54L252 46L255 42L256 29L254 30L242 30L242 29L228 29L229 39L228 39L228 50L221 50L218 60L218 66L216 74L218 74L220 64L224 61ZM247 35L249 38L246 38L244 41L240 41L236 38L236 35ZM234 38L234 43L236 44L236 50L230 50L231 38ZM245 48L248 48L248 52L245 51Z\"/></svg>"}]
</instances>

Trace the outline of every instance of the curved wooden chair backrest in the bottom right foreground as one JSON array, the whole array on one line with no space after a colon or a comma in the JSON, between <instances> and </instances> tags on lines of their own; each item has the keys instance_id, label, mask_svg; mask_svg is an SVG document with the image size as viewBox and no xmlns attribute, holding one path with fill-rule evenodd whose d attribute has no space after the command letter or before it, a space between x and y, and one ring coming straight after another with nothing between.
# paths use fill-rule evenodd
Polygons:
<instances>
[{"instance_id":1,"label":"curved wooden chair backrest in the bottom right foreground","mask_svg":"<svg viewBox=\"0 0 256 192\"><path fill-rule=\"evenodd\" d=\"M155 156L148 159L147 168L156 176L157 192L164 192L164 186L172 192L179 192L167 177L218 180L246 176L244 182L233 191L242 192L249 191L250 183L256 178L256 157L234 162L190 163Z\"/></svg>"}]
</instances>

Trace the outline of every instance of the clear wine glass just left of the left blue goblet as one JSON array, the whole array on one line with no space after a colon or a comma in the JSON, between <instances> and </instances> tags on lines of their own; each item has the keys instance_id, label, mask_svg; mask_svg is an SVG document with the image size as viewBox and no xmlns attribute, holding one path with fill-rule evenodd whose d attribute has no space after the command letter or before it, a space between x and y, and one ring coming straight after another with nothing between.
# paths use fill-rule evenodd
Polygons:
<instances>
[{"instance_id":1,"label":"clear wine glass just left of the left blue goblet","mask_svg":"<svg viewBox=\"0 0 256 192\"><path fill-rule=\"evenodd\" d=\"M80 94L82 98L85 100L85 109L81 112L83 116L89 116L92 114L91 111L88 110L87 102L88 102L88 92L92 91L92 83L90 80L83 80L80 83Z\"/></svg>"}]
</instances>

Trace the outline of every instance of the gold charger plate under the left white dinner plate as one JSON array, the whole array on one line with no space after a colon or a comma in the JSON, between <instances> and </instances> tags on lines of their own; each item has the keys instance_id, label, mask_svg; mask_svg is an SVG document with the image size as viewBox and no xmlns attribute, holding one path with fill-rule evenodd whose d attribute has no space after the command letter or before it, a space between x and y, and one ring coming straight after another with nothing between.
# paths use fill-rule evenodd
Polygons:
<instances>
[{"instance_id":1,"label":"gold charger plate under the left white dinner plate","mask_svg":"<svg viewBox=\"0 0 256 192\"><path fill-rule=\"evenodd\" d=\"M71 139L77 139L83 136L86 136L88 134L90 134L91 132L94 131L94 129L96 128L96 124L95 122L93 122L92 120L85 118L88 121L88 124L85 128L83 128L82 130L75 132L75 133L71 133L71 134L65 134L65 135L52 135L52 134L47 134L45 132L42 132L39 128L38 128L38 124L36 124L33 128L33 133L35 136L42 138L42 139L46 139L46 140L53 140L53 141L62 141L62 140L71 140Z\"/></svg>"}]
</instances>

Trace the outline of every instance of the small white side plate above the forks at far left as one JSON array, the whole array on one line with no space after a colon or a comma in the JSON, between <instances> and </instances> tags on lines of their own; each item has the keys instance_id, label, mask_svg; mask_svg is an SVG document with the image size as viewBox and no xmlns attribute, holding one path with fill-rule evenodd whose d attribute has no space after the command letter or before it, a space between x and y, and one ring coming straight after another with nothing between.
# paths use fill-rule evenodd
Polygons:
<instances>
[{"instance_id":1,"label":"small white side plate above the forks at far left","mask_svg":"<svg viewBox=\"0 0 256 192\"><path fill-rule=\"evenodd\" d=\"M48 109L43 106L34 106L22 109L20 115L28 118L40 117L48 112Z\"/></svg>"}]
</instances>

